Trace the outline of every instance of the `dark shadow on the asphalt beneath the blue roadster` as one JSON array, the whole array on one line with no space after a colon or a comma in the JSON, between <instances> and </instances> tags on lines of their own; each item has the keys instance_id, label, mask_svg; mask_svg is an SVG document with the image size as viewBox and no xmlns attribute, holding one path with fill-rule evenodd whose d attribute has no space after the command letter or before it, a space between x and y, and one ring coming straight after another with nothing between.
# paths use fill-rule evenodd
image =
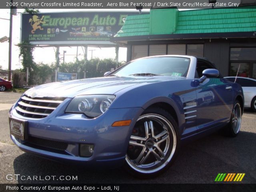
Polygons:
<instances>
[{"instance_id":1,"label":"dark shadow on the asphalt beneath the blue roadster","mask_svg":"<svg viewBox=\"0 0 256 192\"><path fill-rule=\"evenodd\" d=\"M245 173L242 183L256 183L256 134L241 131L228 138L212 134L180 148L174 164L160 176L147 180L134 178L122 169L94 170L60 164L24 153L14 160L14 172L38 180L18 183L214 183L218 173ZM41 180L39 180L41 176ZM50 180L45 180L50 176ZM55 180L52 176L56 176ZM60 180L60 176L77 176L77 180ZM63 177L62 177L63 178ZM44 179L44 180L42 180ZM58 180L57 180L58 179Z\"/></svg>"}]
</instances>

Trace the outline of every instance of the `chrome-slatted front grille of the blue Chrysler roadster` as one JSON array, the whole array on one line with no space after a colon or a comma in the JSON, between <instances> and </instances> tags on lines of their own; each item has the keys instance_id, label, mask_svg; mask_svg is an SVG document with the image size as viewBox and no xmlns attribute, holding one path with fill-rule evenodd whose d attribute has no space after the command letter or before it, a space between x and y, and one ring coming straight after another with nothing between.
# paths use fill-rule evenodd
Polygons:
<instances>
[{"instance_id":1,"label":"chrome-slatted front grille of the blue Chrysler roadster","mask_svg":"<svg viewBox=\"0 0 256 192\"><path fill-rule=\"evenodd\" d=\"M30 118L45 118L50 115L65 98L60 97L43 97L43 98L31 98L28 96L22 96L18 102L16 111L18 114L24 117Z\"/></svg>"}]
</instances>

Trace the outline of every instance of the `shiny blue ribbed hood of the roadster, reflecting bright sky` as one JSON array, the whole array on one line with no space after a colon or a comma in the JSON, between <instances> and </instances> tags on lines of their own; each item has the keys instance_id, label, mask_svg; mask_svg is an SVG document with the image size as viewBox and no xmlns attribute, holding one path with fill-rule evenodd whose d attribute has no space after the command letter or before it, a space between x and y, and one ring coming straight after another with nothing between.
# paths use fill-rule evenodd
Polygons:
<instances>
[{"instance_id":1,"label":"shiny blue ribbed hood of the roadster, reflecting bright sky","mask_svg":"<svg viewBox=\"0 0 256 192\"><path fill-rule=\"evenodd\" d=\"M132 77L102 77L81 80L54 82L35 86L25 92L31 97L69 97L84 94L115 94L116 92L138 84L149 84L184 77L170 76L132 76Z\"/></svg>"}]
</instances>

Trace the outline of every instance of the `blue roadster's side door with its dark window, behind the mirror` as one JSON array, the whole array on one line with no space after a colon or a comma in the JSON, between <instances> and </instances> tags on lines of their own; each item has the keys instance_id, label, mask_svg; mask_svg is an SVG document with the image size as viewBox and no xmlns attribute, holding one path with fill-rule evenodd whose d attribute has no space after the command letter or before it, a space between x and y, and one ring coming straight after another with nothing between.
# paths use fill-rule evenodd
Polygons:
<instances>
[{"instance_id":1,"label":"blue roadster's side door with its dark window, behind the mirror","mask_svg":"<svg viewBox=\"0 0 256 192\"><path fill-rule=\"evenodd\" d=\"M197 60L196 78L202 77L203 70L215 68L206 60ZM233 106L232 82L222 78L207 78L196 88L197 128L206 130L230 120Z\"/></svg>"}]
</instances>

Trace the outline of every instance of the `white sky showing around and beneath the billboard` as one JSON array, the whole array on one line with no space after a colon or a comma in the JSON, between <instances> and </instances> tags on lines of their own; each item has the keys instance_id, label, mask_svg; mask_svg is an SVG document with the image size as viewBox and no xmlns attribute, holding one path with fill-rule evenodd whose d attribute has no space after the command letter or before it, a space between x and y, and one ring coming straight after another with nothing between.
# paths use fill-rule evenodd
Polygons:
<instances>
[{"instance_id":1,"label":"white sky showing around and beneath the billboard","mask_svg":"<svg viewBox=\"0 0 256 192\"><path fill-rule=\"evenodd\" d=\"M23 12L23 9L18 9L18 14L16 16L13 16L13 23L12 23L12 70L22 68L21 65L21 58L19 58L19 48L16 46L18 43L20 43L20 15L21 12ZM58 10L52 10L52 9L41 9L40 12L64 12L64 11L86 11L86 9L58 9ZM90 11L93 11L93 9L90 9ZM99 9L95 9L94 11L100 11ZM104 9L103 11L111 11ZM122 11L122 9L120 10ZM127 11L127 10L125 10ZM135 9L132 11L136 11ZM1 9L0 12L0 38L7 36L9 37L9 26L10 21L4 20L10 19L10 9ZM0 43L0 66L2 66L3 69L8 69L8 49L9 49L9 43L3 42ZM60 47L60 58L62 58L63 51L66 51L65 53L65 62L72 62L75 60L76 57L76 47ZM93 58L115 58L115 49L114 48L95 48L95 47L88 47L88 59L91 58L91 51L93 51ZM36 63L43 62L44 64L51 64L55 62L55 50L53 47L49 48L35 48L33 52L34 61ZM78 59L81 60L84 57L84 53L81 47L78 47ZM119 61L126 61L126 48L120 48L119 49ZM60 59L60 62L63 62L62 59Z\"/></svg>"}]
</instances>

